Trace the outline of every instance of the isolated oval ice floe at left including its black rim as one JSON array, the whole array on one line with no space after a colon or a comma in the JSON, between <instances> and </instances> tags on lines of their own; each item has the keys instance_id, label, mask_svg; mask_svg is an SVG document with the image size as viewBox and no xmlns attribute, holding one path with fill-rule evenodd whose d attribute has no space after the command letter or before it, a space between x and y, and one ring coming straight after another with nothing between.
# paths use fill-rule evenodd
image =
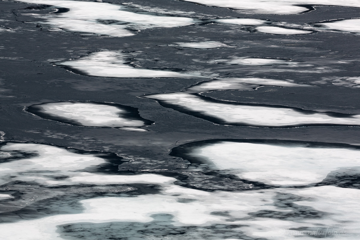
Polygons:
<instances>
[{"instance_id":1,"label":"isolated oval ice floe at left including its black rim","mask_svg":"<svg viewBox=\"0 0 360 240\"><path fill-rule=\"evenodd\" d=\"M141 118L137 108L109 103L62 101L34 104L28 112L42 118L88 127L140 128L153 122Z\"/></svg>"}]
</instances>

